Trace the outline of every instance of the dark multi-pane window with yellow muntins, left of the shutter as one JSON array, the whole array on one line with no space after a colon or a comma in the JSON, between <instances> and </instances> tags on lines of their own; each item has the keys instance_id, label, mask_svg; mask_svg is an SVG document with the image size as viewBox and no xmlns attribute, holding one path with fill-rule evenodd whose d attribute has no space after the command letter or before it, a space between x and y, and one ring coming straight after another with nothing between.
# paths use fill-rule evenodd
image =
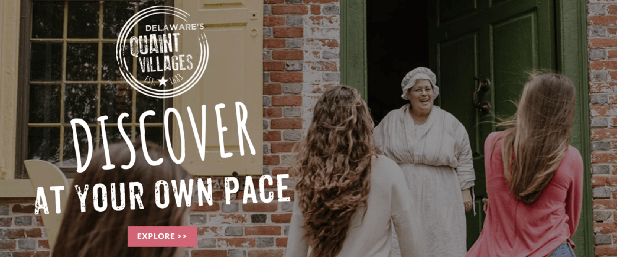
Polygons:
<instances>
[{"instance_id":1,"label":"dark multi-pane window with yellow muntins, left of the shutter","mask_svg":"<svg viewBox=\"0 0 617 257\"><path fill-rule=\"evenodd\" d=\"M118 32L141 9L169 4L166 1L32 1L30 34L22 60L30 60L25 87L22 144L18 160L41 159L59 166L67 177L75 172L76 156L70 120L80 118L89 124L93 145L101 144L99 116L105 121L107 142L123 142L117 119L121 113L123 129L131 139L139 139L139 116L154 110L145 121L147 138L163 145L163 110L170 101L147 97L123 80L115 57ZM145 35L146 24L164 24L159 17L146 18L133 31ZM22 29L22 33L23 33ZM23 37L22 37L23 39ZM28 46L29 45L29 46ZM128 51L128 49L126 49ZM130 55L128 55L130 56ZM143 73L133 57L133 75L144 80L163 76L163 71ZM156 81L156 80L154 80ZM159 86L157 82L154 87ZM19 130L19 129L18 129ZM80 153L88 150L88 138L78 126ZM26 142L22 139L20 142ZM19 145L19 143L18 143ZM21 157L19 156L21 155ZM27 178L23 164L15 178Z\"/></svg>"}]
</instances>

